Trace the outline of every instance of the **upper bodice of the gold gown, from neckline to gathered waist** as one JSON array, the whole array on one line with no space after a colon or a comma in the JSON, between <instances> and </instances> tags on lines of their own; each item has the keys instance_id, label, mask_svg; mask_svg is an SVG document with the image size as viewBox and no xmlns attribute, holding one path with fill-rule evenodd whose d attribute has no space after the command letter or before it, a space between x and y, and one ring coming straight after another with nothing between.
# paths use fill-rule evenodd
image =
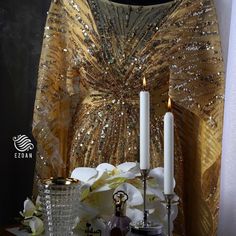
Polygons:
<instances>
[{"instance_id":1,"label":"upper bodice of the gold gown, from neckline to gathered waist","mask_svg":"<svg viewBox=\"0 0 236 236\"><path fill-rule=\"evenodd\" d=\"M78 8L76 1L71 4L68 11ZM144 76L151 92L167 83L169 52L166 48L164 53L161 47L168 40L155 35L178 3L128 6L98 0L88 4L95 22L89 24L81 17L82 38L78 41L83 46L78 45L72 58L87 90L85 95L95 95L100 101L137 103ZM154 48L158 48L159 58Z\"/></svg>"}]
</instances>

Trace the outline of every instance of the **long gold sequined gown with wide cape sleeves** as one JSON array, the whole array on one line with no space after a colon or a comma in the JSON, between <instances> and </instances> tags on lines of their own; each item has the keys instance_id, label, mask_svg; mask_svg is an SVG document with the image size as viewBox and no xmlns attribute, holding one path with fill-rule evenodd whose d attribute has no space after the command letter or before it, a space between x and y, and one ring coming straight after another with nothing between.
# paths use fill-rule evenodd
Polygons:
<instances>
[{"instance_id":1,"label":"long gold sequined gown with wide cape sleeves","mask_svg":"<svg viewBox=\"0 0 236 236\"><path fill-rule=\"evenodd\" d=\"M138 159L139 92L151 97L151 162L163 165L163 115L175 115L178 235L216 235L224 74L211 0L128 6L53 1L39 68L36 176Z\"/></svg>"}]
</instances>

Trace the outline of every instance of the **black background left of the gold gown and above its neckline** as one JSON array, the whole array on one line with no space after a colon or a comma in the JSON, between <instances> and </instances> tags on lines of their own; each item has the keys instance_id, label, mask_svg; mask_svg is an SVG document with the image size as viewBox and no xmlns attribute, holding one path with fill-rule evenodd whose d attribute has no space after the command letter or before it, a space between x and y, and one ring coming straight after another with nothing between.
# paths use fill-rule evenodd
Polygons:
<instances>
[{"instance_id":1,"label":"black background left of the gold gown and above its neckline","mask_svg":"<svg viewBox=\"0 0 236 236\"><path fill-rule=\"evenodd\" d=\"M114 0L154 4L168 0ZM0 0L0 226L14 223L32 195L32 159L16 159L12 138L33 140L32 116L43 30L50 0Z\"/></svg>"}]
</instances>

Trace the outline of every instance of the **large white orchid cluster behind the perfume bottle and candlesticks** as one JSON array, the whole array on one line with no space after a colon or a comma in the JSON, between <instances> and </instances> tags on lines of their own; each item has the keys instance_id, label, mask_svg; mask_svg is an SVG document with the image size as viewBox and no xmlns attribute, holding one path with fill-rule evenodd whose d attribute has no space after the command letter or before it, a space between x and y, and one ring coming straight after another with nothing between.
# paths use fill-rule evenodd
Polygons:
<instances>
[{"instance_id":1,"label":"large white orchid cluster behind the perfume bottle and candlesticks","mask_svg":"<svg viewBox=\"0 0 236 236\"><path fill-rule=\"evenodd\" d=\"M164 200L164 169L150 171L147 182L147 209L149 219L164 225L166 230L166 207ZM109 219L114 213L113 193L124 191L128 194L126 214L133 223L143 220L143 183L140 177L139 164L126 162L117 167L102 163L97 168L76 168L71 177L83 182L81 187L81 204L79 206L79 227L85 222L98 218ZM137 178L138 177L138 178ZM115 191L114 191L115 189ZM175 196L177 200L177 196ZM177 206L172 209L172 222L177 216ZM81 234L82 235L82 234Z\"/></svg>"}]
</instances>

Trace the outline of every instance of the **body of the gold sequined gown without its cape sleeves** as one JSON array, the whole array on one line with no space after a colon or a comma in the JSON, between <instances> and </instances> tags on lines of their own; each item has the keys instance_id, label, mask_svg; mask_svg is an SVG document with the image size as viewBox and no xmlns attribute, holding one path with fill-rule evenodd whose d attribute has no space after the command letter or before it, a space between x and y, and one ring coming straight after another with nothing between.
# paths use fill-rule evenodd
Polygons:
<instances>
[{"instance_id":1,"label":"body of the gold sequined gown without its cape sleeves","mask_svg":"<svg viewBox=\"0 0 236 236\"><path fill-rule=\"evenodd\" d=\"M87 3L94 22L80 16L82 38L75 35L78 45L71 58L82 91L72 125L71 169L78 164L138 160L139 92L144 76L152 98L152 163L160 165L163 147L157 129L162 127L170 62L168 49L163 51L168 39L156 35L179 2L154 6L107 0ZM71 1L66 8L69 14L79 5Z\"/></svg>"}]
</instances>

